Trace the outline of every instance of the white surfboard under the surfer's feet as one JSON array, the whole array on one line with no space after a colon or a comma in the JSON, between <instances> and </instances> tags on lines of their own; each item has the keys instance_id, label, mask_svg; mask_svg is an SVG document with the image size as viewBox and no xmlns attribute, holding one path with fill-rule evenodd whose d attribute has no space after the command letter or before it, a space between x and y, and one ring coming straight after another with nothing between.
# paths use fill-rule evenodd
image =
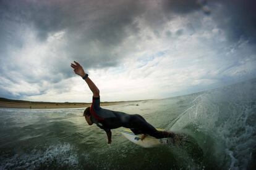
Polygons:
<instances>
[{"instance_id":1,"label":"white surfboard under the surfer's feet","mask_svg":"<svg viewBox=\"0 0 256 170\"><path fill-rule=\"evenodd\" d=\"M164 131L164 129L157 130ZM153 136L147 136L145 139L141 140L142 134L135 135L134 132L132 132L130 129L122 129L121 133L124 137L130 140L130 142L133 142L134 144L140 145L144 148L155 147L156 145L169 144L173 142L171 138L156 139Z\"/></svg>"}]
</instances>

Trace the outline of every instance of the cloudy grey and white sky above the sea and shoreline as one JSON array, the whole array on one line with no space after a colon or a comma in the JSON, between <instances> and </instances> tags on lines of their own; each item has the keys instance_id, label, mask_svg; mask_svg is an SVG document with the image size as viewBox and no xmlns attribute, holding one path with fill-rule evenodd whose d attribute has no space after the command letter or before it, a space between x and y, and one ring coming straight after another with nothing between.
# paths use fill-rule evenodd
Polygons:
<instances>
[{"instance_id":1,"label":"cloudy grey and white sky above the sea and shoreline","mask_svg":"<svg viewBox=\"0 0 256 170\"><path fill-rule=\"evenodd\" d=\"M256 2L0 1L0 97L160 99L256 77Z\"/></svg>"}]
</instances>

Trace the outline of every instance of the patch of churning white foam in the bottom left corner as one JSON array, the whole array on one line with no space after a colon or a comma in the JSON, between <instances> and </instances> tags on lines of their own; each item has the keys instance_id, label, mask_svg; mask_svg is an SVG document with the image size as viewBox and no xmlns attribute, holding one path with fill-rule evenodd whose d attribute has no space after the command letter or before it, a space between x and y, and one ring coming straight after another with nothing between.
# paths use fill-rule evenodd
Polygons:
<instances>
[{"instance_id":1,"label":"patch of churning white foam in the bottom left corner","mask_svg":"<svg viewBox=\"0 0 256 170\"><path fill-rule=\"evenodd\" d=\"M51 145L46 150L32 150L28 154L14 155L2 161L0 169L38 169L54 166L77 168L78 156L70 144Z\"/></svg>"}]
</instances>

